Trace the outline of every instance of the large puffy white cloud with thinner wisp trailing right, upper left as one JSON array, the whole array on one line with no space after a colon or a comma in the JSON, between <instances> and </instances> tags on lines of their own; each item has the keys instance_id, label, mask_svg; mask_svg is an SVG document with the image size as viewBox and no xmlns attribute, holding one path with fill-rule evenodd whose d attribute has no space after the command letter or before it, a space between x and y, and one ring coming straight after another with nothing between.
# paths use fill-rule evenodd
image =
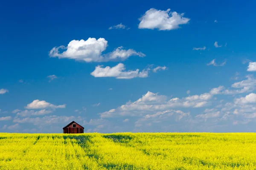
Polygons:
<instances>
[{"instance_id":1,"label":"large puffy white cloud with thinner wisp trailing right, upper left","mask_svg":"<svg viewBox=\"0 0 256 170\"><path fill-rule=\"evenodd\" d=\"M102 54L108 46L108 41L104 38L88 38L88 40L72 40L69 42L67 47L61 45L59 47L54 47L49 52L50 57L58 58L69 58L82 60L85 62L106 62L113 61L116 59L127 59L131 56L145 57L142 52L136 52L133 49L125 50L123 47L118 47L114 51ZM60 52L59 49L64 50Z\"/></svg>"}]
</instances>

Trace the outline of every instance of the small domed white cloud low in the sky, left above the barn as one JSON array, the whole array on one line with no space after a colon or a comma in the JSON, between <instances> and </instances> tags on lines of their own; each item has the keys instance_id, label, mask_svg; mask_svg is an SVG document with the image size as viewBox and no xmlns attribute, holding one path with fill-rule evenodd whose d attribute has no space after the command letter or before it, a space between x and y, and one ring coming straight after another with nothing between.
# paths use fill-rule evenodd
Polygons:
<instances>
[{"instance_id":1,"label":"small domed white cloud low in the sky, left above the barn","mask_svg":"<svg viewBox=\"0 0 256 170\"><path fill-rule=\"evenodd\" d=\"M65 108L66 105L52 105L51 103L48 103L44 100L34 100L32 103L29 103L25 108L26 109L42 109L42 108Z\"/></svg>"}]
</instances>

